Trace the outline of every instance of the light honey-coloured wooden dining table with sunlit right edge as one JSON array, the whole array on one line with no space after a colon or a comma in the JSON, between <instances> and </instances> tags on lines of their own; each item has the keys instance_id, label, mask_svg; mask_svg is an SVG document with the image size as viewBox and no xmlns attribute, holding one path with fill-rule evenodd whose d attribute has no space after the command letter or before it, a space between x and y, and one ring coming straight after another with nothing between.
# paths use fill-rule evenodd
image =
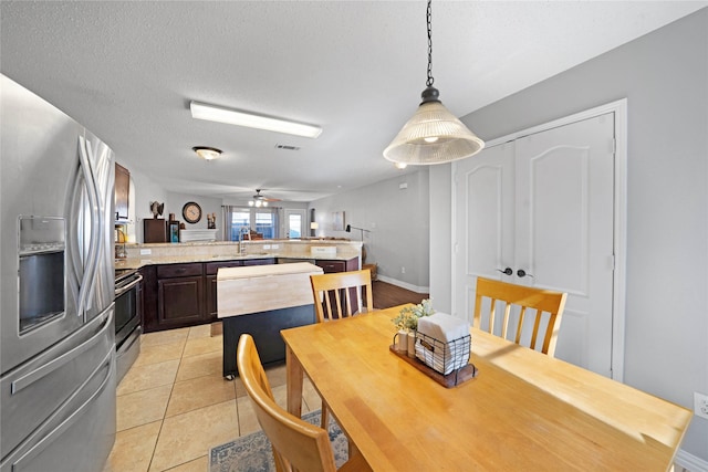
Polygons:
<instances>
[{"instance_id":1,"label":"light honey-coloured wooden dining table with sunlit right edge","mask_svg":"<svg viewBox=\"0 0 708 472\"><path fill-rule=\"evenodd\" d=\"M288 410L306 375L374 471L666 471L691 412L471 329L451 388L391 352L400 306L284 329Z\"/></svg>"}]
</instances>

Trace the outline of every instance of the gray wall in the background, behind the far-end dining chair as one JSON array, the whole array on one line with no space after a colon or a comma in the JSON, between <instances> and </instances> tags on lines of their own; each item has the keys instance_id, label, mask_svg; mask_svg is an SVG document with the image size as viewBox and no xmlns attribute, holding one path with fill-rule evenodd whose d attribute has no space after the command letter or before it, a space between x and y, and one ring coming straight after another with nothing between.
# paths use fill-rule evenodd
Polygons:
<instances>
[{"instance_id":1,"label":"gray wall in the background, behind the far-end dining chair","mask_svg":"<svg viewBox=\"0 0 708 472\"><path fill-rule=\"evenodd\" d=\"M382 158L383 159L383 158ZM382 280L419 293L429 284L428 169L418 168L392 179L310 202L320 223L317 235L351 238L361 231L332 230L332 213L344 211L345 225L364 228L366 262L378 265ZM407 188L402 189L402 185ZM308 213L309 214L309 213ZM447 231L442 231L447 238ZM402 272L405 268L405 273Z\"/></svg>"}]
</instances>

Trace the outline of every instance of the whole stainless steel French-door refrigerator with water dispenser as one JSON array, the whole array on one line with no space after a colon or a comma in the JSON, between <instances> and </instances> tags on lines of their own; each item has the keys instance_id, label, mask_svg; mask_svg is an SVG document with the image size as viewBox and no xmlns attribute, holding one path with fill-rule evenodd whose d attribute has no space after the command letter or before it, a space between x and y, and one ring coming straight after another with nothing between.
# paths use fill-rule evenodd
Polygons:
<instances>
[{"instance_id":1,"label":"whole stainless steel French-door refrigerator with water dispenser","mask_svg":"<svg viewBox=\"0 0 708 472\"><path fill-rule=\"evenodd\" d=\"M0 74L0 471L101 471L115 440L113 151Z\"/></svg>"}]
</instances>

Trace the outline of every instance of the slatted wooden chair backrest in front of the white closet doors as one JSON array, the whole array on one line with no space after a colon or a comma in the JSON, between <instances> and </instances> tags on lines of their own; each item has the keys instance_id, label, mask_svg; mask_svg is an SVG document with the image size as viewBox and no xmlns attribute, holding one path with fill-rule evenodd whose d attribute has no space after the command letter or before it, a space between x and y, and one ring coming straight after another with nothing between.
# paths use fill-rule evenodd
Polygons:
<instances>
[{"instance_id":1,"label":"slatted wooden chair backrest in front of the white closet doors","mask_svg":"<svg viewBox=\"0 0 708 472\"><path fill-rule=\"evenodd\" d=\"M568 294L562 292L553 292L550 290L534 289L490 279L477 277L473 326L481 329L482 298L490 298L488 317L489 326L487 331L494 334L497 302L503 302L504 314L501 325L501 337L507 338L507 335L509 334L511 306L519 306L519 319L517 322L516 333L513 333L514 342L517 344L521 344L522 328L528 326L528 323L524 324L524 318L531 313L534 316L534 321L529 347L531 349L537 349L538 342L540 340L539 328L542 326L544 317L543 313L548 313L545 333L541 335L541 338L543 339L541 352L553 357L555 354L558 332L561 326L561 317L563 315L563 308L565 307L566 296Z\"/></svg>"}]
</instances>

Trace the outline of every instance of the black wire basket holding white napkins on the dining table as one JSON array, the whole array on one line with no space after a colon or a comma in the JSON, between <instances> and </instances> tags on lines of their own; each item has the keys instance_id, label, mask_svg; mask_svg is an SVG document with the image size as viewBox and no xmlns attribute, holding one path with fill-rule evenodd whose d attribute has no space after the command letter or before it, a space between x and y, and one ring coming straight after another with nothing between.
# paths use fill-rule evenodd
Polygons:
<instances>
[{"instance_id":1,"label":"black wire basket holding white napkins on the dining table","mask_svg":"<svg viewBox=\"0 0 708 472\"><path fill-rule=\"evenodd\" d=\"M467 366L470 345L470 335L445 343L416 332L416 357L444 376Z\"/></svg>"}]
</instances>

